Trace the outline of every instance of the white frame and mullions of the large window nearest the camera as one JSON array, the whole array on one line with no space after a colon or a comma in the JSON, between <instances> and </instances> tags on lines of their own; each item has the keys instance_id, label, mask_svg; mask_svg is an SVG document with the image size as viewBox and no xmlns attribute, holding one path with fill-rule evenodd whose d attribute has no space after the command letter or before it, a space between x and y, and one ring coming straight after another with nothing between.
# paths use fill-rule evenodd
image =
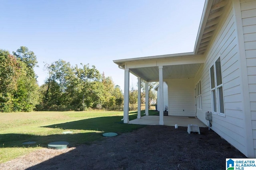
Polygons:
<instances>
[{"instance_id":1,"label":"white frame and mullions of the large window nearest the camera","mask_svg":"<svg viewBox=\"0 0 256 170\"><path fill-rule=\"evenodd\" d=\"M219 56L218 59L220 59L220 70L222 70L222 66L221 66L221 57ZM216 61L218 61L218 59ZM220 75L221 75L221 83L219 85L217 85L217 74L216 74L216 61L214 62L214 64L210 67L209 69L209 72L210 72L210 89L211 89L211 100L212 100L212 113L216 114L216 115L220 115L220 116L224 116L225 117L225 104L224 104L224 93L223 93L223 76L222 76L222 71L220 72ZM213 67L213 73L214 73L214 77L213 77L213 80L214 80L214 87L212 87L212 77L211 77L211 68ZM222 88L222 109L223 109L223 112L220 112L221 110L221 104L220 104L220 88ZM214 107L214 102L215 102L215 107ZM215 108L215 109L214 109Z\"/></svg>"}]
</instances>

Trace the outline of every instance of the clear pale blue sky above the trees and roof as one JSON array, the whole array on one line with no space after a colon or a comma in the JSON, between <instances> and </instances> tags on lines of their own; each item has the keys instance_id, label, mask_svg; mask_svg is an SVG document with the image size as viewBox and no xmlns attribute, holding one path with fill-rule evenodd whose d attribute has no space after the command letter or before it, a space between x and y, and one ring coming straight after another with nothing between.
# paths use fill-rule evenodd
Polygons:
<instances>
[{"instance_id":1,"label":"clear pale blue sky above the trees and roof","mask_svg":"<svg viewBox=\"0 0 256 170\"><path fill-rule=\"evenodd\" d=\"M124 88L113 60L192 52L204 0L3 0L0 49L26 46L38 60L95 65ZM137 79L130 76L136 87Z\"/></svg>"}]
</instances>

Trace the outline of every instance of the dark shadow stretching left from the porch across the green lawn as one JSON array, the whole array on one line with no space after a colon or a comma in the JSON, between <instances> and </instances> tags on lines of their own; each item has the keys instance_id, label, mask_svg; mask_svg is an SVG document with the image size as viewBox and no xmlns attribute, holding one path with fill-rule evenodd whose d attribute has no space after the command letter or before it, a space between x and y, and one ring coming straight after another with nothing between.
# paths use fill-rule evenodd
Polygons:
<instances>
[{"instance_id":1,"label":"dark shadow stretching left from the porch across the green lawn","mask_svg":"<svg viewBox=\"0 0 256 170\"><path fill-rule=\"evenodd\" d=\"M136 119L137 115L130 115L129 119ZM66 123L59 123L44 126L45 133L49 133L47 128L58 128L63 131L72 130L86 130L84 133L71 133L71 134L53 134L53 135L30 135L22 133L8 133L0 134L0 145L2 147L47 147L48 143L55 141L67 141L71 146L81 144L89 144L92 141L104 139L102 134L105 132L116 132L118 134L131 132L145 125L132 125L126 124L121 121L122 116L109 116L109 117L95 117L90 119L83 119L79 121L71 121ZM93 132L96 131L96 132ZM23 145L23 142L35 141L32 145Z\"/></svg>"}]
</instances>

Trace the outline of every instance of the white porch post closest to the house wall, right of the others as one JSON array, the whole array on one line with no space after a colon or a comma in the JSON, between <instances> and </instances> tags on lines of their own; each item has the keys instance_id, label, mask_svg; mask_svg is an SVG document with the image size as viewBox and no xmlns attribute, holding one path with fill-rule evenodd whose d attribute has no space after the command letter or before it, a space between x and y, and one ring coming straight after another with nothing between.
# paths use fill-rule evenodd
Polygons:
<instances>
[{"instance_id":1,"label":"white porch post closest to the house wall, right of the others","mask_svg":"<svg viewBox=\"0 0 256 170\"><path fill-rule=\"evenodd\" d=\"M164 125L164 82L163 82L163 66L159 69L159 125Z\"/></svg>"}]
</instances>

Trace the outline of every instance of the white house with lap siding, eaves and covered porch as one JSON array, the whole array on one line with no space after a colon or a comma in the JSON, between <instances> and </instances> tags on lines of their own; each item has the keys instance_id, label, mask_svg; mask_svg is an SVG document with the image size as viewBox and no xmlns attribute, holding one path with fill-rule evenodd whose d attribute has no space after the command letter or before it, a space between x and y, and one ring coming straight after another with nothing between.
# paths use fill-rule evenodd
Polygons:
<instances>
[{"instance_id":1,"label":"white house with lap siding, eaves and covered porch","mask_svg":"<svg viewBox=\"0 0 256 170\"><path fill-rule=\"evenodd\" d=\"M206 0L191 53L114 63L125 72L124 123L129 122L131 72L139 80L159 81L160 125L165 81L172 115L196 115L207 125L205 113L211 111L211 129L256 157L256 0Z\"/></svg>"}]
</instances>

